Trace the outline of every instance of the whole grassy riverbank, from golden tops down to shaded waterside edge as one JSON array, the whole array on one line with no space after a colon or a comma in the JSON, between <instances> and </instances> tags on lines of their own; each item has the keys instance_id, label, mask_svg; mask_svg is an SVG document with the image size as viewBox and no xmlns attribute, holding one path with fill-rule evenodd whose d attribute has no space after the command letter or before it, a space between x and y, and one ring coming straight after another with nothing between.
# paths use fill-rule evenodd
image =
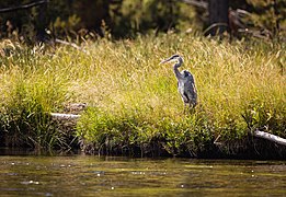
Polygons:
<instances>
[{"instance_id":1,"label":"whole grassy riverbank, from golden tops down to shaded waterside edge","mask_svg":"<svg viewBox=\"0 0 286 197\"><path fill-rule=\"evenodd\" d=\"M1 43L1 136L5 146L70 147L113 154L226 155L248 152L250 129L286 138L285 44L232 44L192 35L24 47ZM171 65L184 57L198 106L184 114ZM75 132L48 115L88 103ZM214 140L219 136L217 144Z\"/></svg>"}]
</instances>

